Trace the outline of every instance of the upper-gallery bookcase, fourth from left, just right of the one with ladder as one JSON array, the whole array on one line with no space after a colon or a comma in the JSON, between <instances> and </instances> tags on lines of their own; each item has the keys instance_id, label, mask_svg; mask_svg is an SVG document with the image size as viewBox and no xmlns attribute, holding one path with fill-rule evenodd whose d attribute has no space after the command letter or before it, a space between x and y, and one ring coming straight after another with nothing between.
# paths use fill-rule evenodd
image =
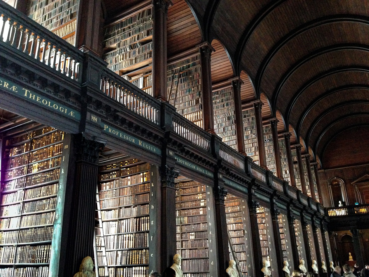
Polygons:
<instances>
[{"instance_id":1,"label":"upper-gallery bookcase, fourth from left, just right of the one with ladder","mask_svg":"<svg viewBox=\"0 0 369 277\"><path fill-rule=\"evenodd\" d=\"M237 150L233 88L213 90L214 130L222 141Z\"/></svg>"}]
</instances>

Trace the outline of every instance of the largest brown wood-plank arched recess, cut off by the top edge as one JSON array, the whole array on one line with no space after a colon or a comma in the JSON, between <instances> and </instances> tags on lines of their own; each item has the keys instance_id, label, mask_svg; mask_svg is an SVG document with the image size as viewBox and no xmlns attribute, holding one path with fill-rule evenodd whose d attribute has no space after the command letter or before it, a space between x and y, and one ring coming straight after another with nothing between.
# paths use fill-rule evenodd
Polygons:
<instances>
[{"instance_id":1,"label":"largest brown wood-plank arched recess, cut off by the top edge","mask_svg":"<svg viewBox=\"0 0 369 277\"><path fill-rule=\"evenodd\" d=\"M185 0L173 0L168 9L167 55L183 52L200 44L201 30L190 6Z\"/></svg>"}]
</instances>

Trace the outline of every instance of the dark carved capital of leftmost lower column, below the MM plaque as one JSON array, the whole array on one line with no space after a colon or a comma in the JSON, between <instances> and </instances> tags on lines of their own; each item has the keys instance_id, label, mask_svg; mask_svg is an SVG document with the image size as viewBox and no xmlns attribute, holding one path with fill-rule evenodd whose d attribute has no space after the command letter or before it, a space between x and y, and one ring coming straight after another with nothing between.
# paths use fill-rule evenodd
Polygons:
<instances>
[{"instance_id":1,"label":"dark carved capital of leftmost lower column, below the MM plaque","mask_svg":"<svg viewBox=\"0 0 369 277\"><path fill-rule=\"evenodd\" d=\"M104 148L104 143L88 140L77 134L74 137L76 144L76 157L77 161L85 161L87 163L97 164L99 162L99 153L101 148Z\"/></svg>"}]
</instances>

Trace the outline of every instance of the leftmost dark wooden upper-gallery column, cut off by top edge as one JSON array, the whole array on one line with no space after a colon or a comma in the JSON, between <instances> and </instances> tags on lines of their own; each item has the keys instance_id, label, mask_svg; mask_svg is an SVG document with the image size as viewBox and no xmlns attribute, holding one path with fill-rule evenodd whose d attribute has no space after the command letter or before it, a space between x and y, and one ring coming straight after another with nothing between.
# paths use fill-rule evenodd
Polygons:
<instances>
[{"instance_id":1,"label":"leftmost dark wooden upper-gallery column, cut off by top edge","mask_svg":"<svg viewBox=\"0 0 369 277\"><path fill-rule=\"evenodd\" d=\"M102 36L101 26L104 22L100 0L80 0L76 25L76 47L90 50L101 57Z\"/></svg>"}]
</instances>

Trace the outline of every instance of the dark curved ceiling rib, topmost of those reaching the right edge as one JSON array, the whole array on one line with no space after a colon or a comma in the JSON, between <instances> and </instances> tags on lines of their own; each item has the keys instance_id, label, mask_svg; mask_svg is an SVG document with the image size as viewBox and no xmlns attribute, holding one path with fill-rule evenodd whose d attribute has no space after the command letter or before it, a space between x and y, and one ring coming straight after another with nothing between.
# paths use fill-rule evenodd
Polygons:
<instances>
[{"instance_id":1,"label":"dark curved ceiling rib, topmost of those reaching the right edge","mask_svg":"<svg viewBox=\"0 0 369 277\"><path fill-rule=\"evenodd\" d=\"M369 25L369 17L363 17L363 16L355 16L355 15L335 15L335 16L326 16L317 18L315 20L311 20L307 23L304 23L300 25L299 27L292 30L290 33L282 37L274 46L273 48L268 52L268 54L264 57L263 61L261 62L261 65L259 66L256 76L255 76L255 85L256 85L256 94L259 95L260 92L260 83L262 80L262 76L265 72L266 67L268 66L269 62L272 60L274 55L279 51L280 48L283 47L288 41L292 40L294 37L304 33L307 30L310 30L312 28L331 24L331 23L337 23L337 22L353 22L353 23L360 23Z\"/></svg>"}]
</instances>

